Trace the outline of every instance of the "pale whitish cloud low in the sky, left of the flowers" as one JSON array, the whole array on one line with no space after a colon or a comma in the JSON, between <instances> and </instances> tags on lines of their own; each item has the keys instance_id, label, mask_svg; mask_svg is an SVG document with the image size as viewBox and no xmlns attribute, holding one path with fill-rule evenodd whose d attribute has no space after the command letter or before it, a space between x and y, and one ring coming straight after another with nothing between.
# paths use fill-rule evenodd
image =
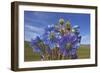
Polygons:
<instances>
[{"instance_id":1,"label":"pale whitish cloud low in the sky, left of the flowers","mask_svg":"<svg viewBox=\"0 0 100 73\"><path fill-rule=\"evenodd\" d=\"M31 39L34 39L36 36L41 36L44 33L43 28L34 27L28 24L25 25L24 29L26 41L31 41Z\"/></svg>"}]
</instances>

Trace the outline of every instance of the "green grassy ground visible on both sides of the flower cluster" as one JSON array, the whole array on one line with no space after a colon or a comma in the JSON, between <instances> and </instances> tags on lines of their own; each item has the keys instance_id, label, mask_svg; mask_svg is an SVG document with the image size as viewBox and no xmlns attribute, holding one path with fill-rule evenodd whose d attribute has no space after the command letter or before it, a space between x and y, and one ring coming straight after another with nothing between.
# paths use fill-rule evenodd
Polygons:
<instances>
[{"instance_id":1,"label":"green grassy ground visible on both sides of the flower cluster","mask_svg":"<svg viewBox=\"0 0 100 73\"><path fill-rule=\"evenodd\" d=\"M33 53L29 42L24 42L24 61L37 61L40 60L40 56L37 53ZM78 49L78 58L86 59L90 58L90 45L81 45Z\"/></svg>"}]
</instances>

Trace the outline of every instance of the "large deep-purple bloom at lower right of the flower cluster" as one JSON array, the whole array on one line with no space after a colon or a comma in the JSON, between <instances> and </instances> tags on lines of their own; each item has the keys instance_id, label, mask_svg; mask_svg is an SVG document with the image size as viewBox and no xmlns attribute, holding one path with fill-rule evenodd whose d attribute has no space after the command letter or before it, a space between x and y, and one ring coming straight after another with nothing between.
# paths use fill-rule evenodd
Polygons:
<instances>
[{"instance_id":1,"label":"large deep-purple bloom at lower right of the flower cluster","mask_svg":"<svg viewBox=\"0 0 100 73\"><path fill-rule=\"evenodd\" d=\"M75 34L70 33L68 35L63 36L59 41L61 52L67 55L69 50L71 50L72 48L75 49L77 48L76 43L77 43L77 37Z\"/></svg>"}]
</instances>

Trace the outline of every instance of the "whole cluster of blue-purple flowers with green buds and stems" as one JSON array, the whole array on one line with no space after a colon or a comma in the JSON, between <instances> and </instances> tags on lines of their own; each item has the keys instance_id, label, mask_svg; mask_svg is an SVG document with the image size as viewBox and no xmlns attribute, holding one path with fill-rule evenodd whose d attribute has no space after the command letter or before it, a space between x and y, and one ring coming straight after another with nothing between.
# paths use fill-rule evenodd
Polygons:
<instances>
[{"instance_id":1,"label":"whole cluster of blue-purple flowers with green buds and stems","mask_svg":"<svg viewBox=\"0 0 100 73\"><path fill-rule=\"evenodd\" d=\"M41 60L77 59L77 49L80 47L81 36L78 25L64 23L48 25L45 32L31 41L33 51L40 54Z\"/></svg>"}]
</instances>

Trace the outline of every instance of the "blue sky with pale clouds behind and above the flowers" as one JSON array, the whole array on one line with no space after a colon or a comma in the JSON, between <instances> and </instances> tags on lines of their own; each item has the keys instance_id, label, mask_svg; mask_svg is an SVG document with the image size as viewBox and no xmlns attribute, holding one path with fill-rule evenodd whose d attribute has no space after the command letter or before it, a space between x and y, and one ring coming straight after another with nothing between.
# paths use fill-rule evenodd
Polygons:
<instances>
[{"instance_id":1,"label":"blue sky with pale clouds behind and above the flowers","mask_svg":"<svg viewBox=\"0 0 100 73\"><path fill-rule=\"evenodd\" d=\"M90 44L90 14L39 11L24 11L25 41L42 35L45 27L58 23L60 18L63 18L65 22L69 20L72 26L79 25L82 35L81 43Z\"/></svg>"}]
</instances>

